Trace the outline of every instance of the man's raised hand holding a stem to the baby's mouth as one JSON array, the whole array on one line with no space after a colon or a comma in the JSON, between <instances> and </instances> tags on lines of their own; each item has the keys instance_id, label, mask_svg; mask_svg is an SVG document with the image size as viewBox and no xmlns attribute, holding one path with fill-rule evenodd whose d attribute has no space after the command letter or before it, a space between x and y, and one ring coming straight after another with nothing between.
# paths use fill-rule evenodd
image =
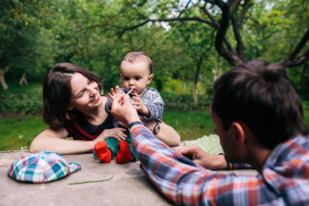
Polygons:
<instances>
[{"instance_id":1,"label":"man's raised hand holding a stem to the baby's mouth","mask_svg":"<svg viewBox=\"0 0 309 206\"><path fill-rule=\"evenodd\" d=\"M112 102L112 115L125 125L139 121L136 109L130 103L130 96L121 94Z\"/></svg>"}]
</instances>

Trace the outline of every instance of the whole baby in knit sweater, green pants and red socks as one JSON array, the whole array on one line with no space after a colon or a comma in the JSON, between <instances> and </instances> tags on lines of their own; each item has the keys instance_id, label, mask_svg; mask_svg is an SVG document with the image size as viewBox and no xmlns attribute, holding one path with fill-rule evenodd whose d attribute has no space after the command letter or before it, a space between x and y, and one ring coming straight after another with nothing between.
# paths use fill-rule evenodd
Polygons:
<instances>
[{"instance_id":1,"label":"whole baby in knit sweater, green pants and red socks","mask_svg":"<svg viewBox=\"0 0 309 206\"><path fill-rule=\"evenodd\" d=\"M115 87L115 90L111 88L111 93L108 93L111 98L106 101L105 111L108 114L111 113L112 101L121 93L129 94L131 104L138 111L138 114L141 115L145 120L155 120L156 125L154 128L151 128L151 130L153 130L153 134L159 139L161 139L163 142L168 144L168 137L160 138L158 134L160 131L159 123L161 125L163 123L162 114L164 102L162 101L157 89L146 88L146 86L150 84L153 78L151 59L142 52L132 52L126 54L120 64L120 76L123 88L119 88L118 85ZM115 128L123 126L120 125L119 122L115 119L113 120L113 125ZM164 124L163 126L164 129L167 128L171 130L173 138L180 139L180 136L172 127L169 127L166 124ZM108 149L112 152L112 158L116 157L117 163L125 163L132 160L138 160L133 151L133 146L131 138L129 137L129 133L126 140L118 142L116 139L108 138L106 140L106 143ZM98 145L95 146L94 157L96 155L97 158L102 161L102 159L104 159L104 155L102 155L100 151L102 150L98 143ZM121 162L119 162L118 157L120 157Z\"/></svg>"}]
</instances>

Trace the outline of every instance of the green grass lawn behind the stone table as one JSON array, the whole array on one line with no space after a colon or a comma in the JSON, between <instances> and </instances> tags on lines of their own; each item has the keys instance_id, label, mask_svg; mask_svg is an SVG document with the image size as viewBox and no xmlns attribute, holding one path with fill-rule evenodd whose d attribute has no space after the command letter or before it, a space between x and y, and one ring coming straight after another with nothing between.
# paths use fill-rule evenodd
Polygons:
<instances>
[{"instance_id":1,"label":"green grass lawn behind the stone table","mask_svg":"<svg viewBox=\"0 0 309 206\"><path fill-rule=\"evenodd\" d=\"M309 126L309 102L303 101L304 116ZM214 134L214 123L208 111L164 112L163 122L175 128L181 140ZM0 151L29 149L32 139L47 128L38 116L0 119Z\"/></svg>"}]
</instances>

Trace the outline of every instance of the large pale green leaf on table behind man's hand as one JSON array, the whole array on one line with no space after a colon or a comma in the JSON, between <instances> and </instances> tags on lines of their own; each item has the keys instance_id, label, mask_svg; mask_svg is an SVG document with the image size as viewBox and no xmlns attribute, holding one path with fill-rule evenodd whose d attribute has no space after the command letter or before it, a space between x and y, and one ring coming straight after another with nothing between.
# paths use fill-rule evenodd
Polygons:
<instances>
[{"instance_id":1,"label":"large pale green leaf on table behind man's hand","mask_svg":"<svg viewBox=\"0 0 309 206\"><path fill-rule=\"evenodd\" d=\"M202 148L202 150L211 155L218 155L223 152L220 144L220 137L218 135L204 135L196 140L187 140L184 142L184 146L189 146L191 144L196 144Z\"/></svg>"}]
</instances>

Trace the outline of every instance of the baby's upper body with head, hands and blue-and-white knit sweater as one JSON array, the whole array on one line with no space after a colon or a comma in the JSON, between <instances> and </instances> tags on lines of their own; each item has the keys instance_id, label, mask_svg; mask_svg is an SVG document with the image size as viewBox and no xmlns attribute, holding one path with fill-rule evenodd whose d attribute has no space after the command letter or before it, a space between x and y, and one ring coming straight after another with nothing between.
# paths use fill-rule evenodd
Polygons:
<instances>
[{"instance_id":1,"label":"baby's upper body with head, hands and blue-and-white knit sweater","mask_svg":"<svg viewBox=\"0 0 309 206\"><path fill-rule=\"evenodd\" d=\"M132 52L125 55L120 64L120 76L123 88L119 88L117 85L115 91L111 89L111 93L108 93L111 98L106 101L105 111L110 113L112 100L117 94L130 92L131 104L144 119L156 121L157 125L153 133L158 134L164 102L158 90L146 88L154 76L151 59L142 52ZM118 125L119 122L114 121L114 127L118 127Z\"/></svg>"}]
</instances>

